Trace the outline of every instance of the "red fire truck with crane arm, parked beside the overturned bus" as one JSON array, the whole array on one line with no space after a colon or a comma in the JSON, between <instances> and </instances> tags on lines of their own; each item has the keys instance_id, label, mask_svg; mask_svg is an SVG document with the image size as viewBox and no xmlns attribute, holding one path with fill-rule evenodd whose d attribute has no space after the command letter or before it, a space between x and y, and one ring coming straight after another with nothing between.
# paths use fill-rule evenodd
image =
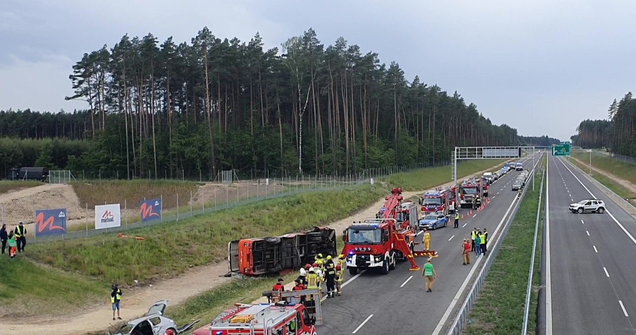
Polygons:
<instances>
[{"instance_id":1,"label":"red fire truck with crane arm, parked beside the overturned bus","mask_svg":"<svg viewBox=\"0 0 636 335\"><path fill-rule=\"evenodd\" d=\"M345 229L342 240L345 247L342 254L349 273L356 275L359 270L368 268L380 269L384 275L396 268L398 260L409 261L411 271L417 271L420 267L413 257L436 256L434 251L415 252L415 228L417 226L417 214L400 212L402 189L393 188L391 196L387 196L384 204L384 212L381 217L366 219L364 222L354 223ZM417 206L411 203L417 212ZM407 205L411 208L411 205ZM404 213L401 216L399 213ZM408 214L408 217L406 217ZM399 221L401 219L403 221ZM411 222L412 221L412 222Z\"/></svg>"}]
</instances>

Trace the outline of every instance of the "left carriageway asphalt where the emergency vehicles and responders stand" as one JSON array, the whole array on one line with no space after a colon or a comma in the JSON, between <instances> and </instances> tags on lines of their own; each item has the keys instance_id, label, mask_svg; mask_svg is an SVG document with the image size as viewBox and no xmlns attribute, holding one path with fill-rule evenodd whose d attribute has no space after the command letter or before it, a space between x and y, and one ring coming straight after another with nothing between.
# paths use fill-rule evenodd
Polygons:
<instances>
[{"instance_id":1,"label":"left carriageway asphalt where the emergency vehicles and responders stand","mask_svg":"<svg viewBox=\"0 0 636 335\"><path fill-rule=\"evenodd\" d=\"M525 161L524 167L530 165L532 160ZM471 217L467 217L469 209L462 209L460 214L464 215L464 219L460 219L459 228L453 228L451 221L448 227L431 231L431 249L439 254L432 260L439 276L432 292L424 292L422 269L409 271L408 262L398 263L396 270L388 275L370 270L350 277L347 271L343 296L326 299L322 304L325 322L319 327L319 332L385 335L399 331L402 334L434 334L453 303L453 297L460 289L466 289L466 278L473 275L474 267L480 266L483 259L478 261L473 253L471 264L462 265L462 240L470 238L473 228L486 228L490 234L488 240L494 240L497 227L504 221L504 214L512 212L516 191L511 190L511 183L517 174L516 171L508 172L490 186L490 203L485 209L473 211ZM498 235L499 231L496 233ZM421 240L420 234L418 242ZM421 250L421 245L418 247ZM426 257L417 257L416 260L422 267ZM446 323L452 321L453 316L446 315ZM396 328L396 325L399 327Z\"/></svg>"}]
</instances>

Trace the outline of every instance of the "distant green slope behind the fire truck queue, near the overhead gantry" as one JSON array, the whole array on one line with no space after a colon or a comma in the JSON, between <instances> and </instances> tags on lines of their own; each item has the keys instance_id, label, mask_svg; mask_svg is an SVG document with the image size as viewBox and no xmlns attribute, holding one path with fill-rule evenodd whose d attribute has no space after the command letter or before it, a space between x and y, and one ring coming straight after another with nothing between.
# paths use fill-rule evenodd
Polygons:
<instances>
[{"instance_id":1,"label":"distant green slope behind the fire truck queue, near the overhead gantry","mask_svg":"<svg viewBox=\"0 0 636 335\"><path fill-rule=\"evenodd\" d=\"M467 160L457 164L457 181L464 177L491 168L492 171L499 170L504 162L508 160ZM495 167L496 166L496 167ZM389 185L400 187L404 191L424 191L425 189L438 186L446 182L452 182L451 167L423 168L413 172L403 172L401 174L389 175L386 181Z\"/></svg>"}]
</instances>

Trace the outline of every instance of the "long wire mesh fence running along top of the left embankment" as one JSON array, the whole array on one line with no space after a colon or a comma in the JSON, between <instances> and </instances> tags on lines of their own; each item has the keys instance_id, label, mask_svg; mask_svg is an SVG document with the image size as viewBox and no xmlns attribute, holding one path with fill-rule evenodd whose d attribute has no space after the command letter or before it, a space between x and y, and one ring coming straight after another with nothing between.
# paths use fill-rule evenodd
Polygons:
<instances>
[{"instance_id":1,"label":"long wire mesh fence running along top of the left embankment","mask_svg":"<svg viewBox=\"0 0 636 335\"><path fill-rule=\"evenodd\" d=\"M16 200L12 203L3 203L0 212L2 222L6 222L8 226L13 226L17 224L18 221L24 221L27 227L27 240L31 243L41 243L94 236L102 233L123 232L162 222L188 219L196 215L202 215L216 210L230 209L246 203L254 203L261 200L313 191L342 189L347 186L364 184L370 182L370 179L378 179L391 174L410 172L420 168L443 167L448 165L450 165L450 161L429 162L406 165L403 167L370 168L359 174L350 175L300 175L286 178L261 178L239 182L236 181L236 177L234 176L232 184L223 184L223 180L221 180L218 184L206 184L204 191L200 188L199 191L195 191L194 193L161 195L157 200L160 200L162 205L165 203L171 204L170 206L166 206L170 208L162 206L159 212L155 214L155 218L151 221L141 219L144 208L142 207L142 209L140 209L139 203L132 203L129 200L120 201L120 220L118 220L120 225L103 229L95 229L95 223L98 222L99 224L101 219L106 219L96 217L95 212L99 212L99 210L96 210L93 205L88 204L83 204L81 207L78 207L77 205L71 206L69 203L64 204L64 202L57 202L60 203L60 205L55 205L52 201L49 206L41 206L36 203L25 203L24 201ZM60 172L56 174L56 176L56 179L60 181L68 176L73 178L71 172ZM229 173L227 178L222 179L230 179ZM56 195L51 194L47 196L55 197ZM99 205L109 204L102 203ZM116 205L116 203L111 203L111 205ZM48 208L42 209L38 207ZM20 212L17 212L18 209ZM52 229L56 227L55 222L62 222L57 221L58 218L55 217L44 217L41 221L36 220L36 215L34 215L37 213L36 211L45 210L53 212L53 209L65 211L64 221L66 222L66 229L52 232ZM101 212L97 216L99 215L101 215ZM106 213L103 215L106 215ZM51 222L46 221L47 218L49 218ZM38 227L37 229L36 226ZM48 235L44 235L42 229L44 229Z\"/></svg>"}]
</instances>

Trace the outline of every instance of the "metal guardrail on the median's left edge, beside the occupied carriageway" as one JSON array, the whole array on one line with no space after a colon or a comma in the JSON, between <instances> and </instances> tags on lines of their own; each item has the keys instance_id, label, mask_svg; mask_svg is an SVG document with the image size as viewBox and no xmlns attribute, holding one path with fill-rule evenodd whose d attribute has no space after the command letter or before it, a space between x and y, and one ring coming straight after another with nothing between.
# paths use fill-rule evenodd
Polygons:
<instances>
[{"instance_id":1,"label":"metal guardrail on the median's left edge, beside the occupied carriageway","mask_svg":"<svg viewBox=\"0 0 636 335\"><path fill-rule=\"evenodd\" d=\"M537 165L539 165L540 161L541 159L537 160L535 166L532 168L531 174L533 179L535 178L536 167ZM543 188L543 179L542 179L541 187ZM453 324L450 326L450 329L448 329L448 332L446 332L447 335L459 335L462 329L464 329L464 325L466 324L468 320L471 308L473 308L473 304L477 300L479 291L486 280L486 276L488 275L488 271L492 267L492 264L495 263L495 257L497 257L497 253L499 252L499 247L501 247L501 244L504 242L504 239L506 238L506 235L508 234L510 222L515 218L516 212L519 209L519 205L523 201L523 198L525 198L527 189L528 189L527 186L523 188L522 195L520 196L517 204L513 208L513 212L511 212L510 215L508 216L508 220L506 221L506 224L504 224L501 234L497 236L497 240L495 241L494 247L490 249L491 250L490 254L488 254L488 256L486 257L485 264L483 264L483 267L481 268L480 273L478 274L478 277L476 278L474 284L471 286L470 291L468 291L468 295L466 299L464 299L464 303L460 307L460 310L457 313L457 317L455 317L455 319L453 320Z\"/></svg>"}]
</instances>

